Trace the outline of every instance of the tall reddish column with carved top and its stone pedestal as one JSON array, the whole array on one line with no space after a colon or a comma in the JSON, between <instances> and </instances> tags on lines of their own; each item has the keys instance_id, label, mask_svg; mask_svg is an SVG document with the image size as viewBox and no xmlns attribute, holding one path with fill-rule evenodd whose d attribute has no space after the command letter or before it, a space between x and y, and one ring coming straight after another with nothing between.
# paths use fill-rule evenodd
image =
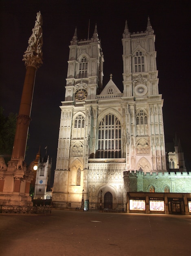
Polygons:
<instances>
[{"instance_id":1,"label":"tall reddish column with carved top and its stone pedestal","mask_svg":"<svg viewBox=\"0 0 191 256\"><path fill-rule=\"evenodd\" d=\"M0 177L0 204L6 205L29 205L32 204L29 196L30 182L33 174L26 172L24 162L26 141L28 137L29 124L31 121L31 106L33 101L33 90L37 69L42 65L42 16L37 13L35 27L29 38L29 46L24 52L23 61L26 65L22 97L11 161L8 162L7 171L1 173ZM21 183L22 182L22 183ZM26 195L25 193L28 195Z\"/></svg>"}]
</instances>

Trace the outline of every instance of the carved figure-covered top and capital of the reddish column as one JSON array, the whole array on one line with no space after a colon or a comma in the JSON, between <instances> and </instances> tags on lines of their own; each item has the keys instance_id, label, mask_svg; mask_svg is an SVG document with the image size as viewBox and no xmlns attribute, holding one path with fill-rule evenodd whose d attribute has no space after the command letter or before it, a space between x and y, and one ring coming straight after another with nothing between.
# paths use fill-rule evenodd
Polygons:
<instances>
[{"instance_id":1,"label":"carved figure-covered top and capital of the reddish column","mask_svg":"<svg viewBox=\"0 0 191 256\"><path fill-rule=\"evenodd\" d=\"M35 27L32 29L33 33L29 38L29 46L24 52L23 61L27 66L33 66L36 69L42 65L42 15L37 12L37 20L35 20Z\"/></svg>"}]
</instances>

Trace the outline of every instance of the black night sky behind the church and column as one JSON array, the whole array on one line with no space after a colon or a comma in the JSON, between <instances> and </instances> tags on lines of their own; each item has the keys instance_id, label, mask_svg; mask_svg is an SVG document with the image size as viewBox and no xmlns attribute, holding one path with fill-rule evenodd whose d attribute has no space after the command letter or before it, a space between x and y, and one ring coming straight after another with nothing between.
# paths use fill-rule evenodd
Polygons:
<instances>
[{"instance_id":1,"label":"black night sky behind the church and column","mask_svg":"<svg viewBox=\"0 0 191 256\"><path fill-rule=\"evenodd\" d=\"M186 166L191 170L190 0L1 0L0 6L0 106L4 115L18 113L26 68L22 56L35 25L43 17L43 62L37 70L29 150L25 162L42 157L53 159L55 169L61 101L64 101L70 40L77 26L78 39L90 38L97 30L104 54L103 86L113 81L123 91L121 38L127 19L131 33L145 31L147 16L156 35L159 92L164 99L165 142L180 138Z\"/></svg>"}]
</instances>

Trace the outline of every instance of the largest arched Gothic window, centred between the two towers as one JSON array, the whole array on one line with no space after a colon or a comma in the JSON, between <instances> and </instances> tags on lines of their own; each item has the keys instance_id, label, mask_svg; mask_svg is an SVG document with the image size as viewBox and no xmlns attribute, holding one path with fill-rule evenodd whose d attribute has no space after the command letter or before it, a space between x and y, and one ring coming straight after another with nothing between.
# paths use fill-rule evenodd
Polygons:
<instances>
[{"instance_id":1,"label":"largest arched Gothic window, centred between the two towers","mask_svg":"<svg viewBox=\"0 0 191 256\"><path fill-rule=\"evenodd\" d=\"M121 158L121 123L114 114L99 123L97 158Z\"/></svg>"}]
</instances>

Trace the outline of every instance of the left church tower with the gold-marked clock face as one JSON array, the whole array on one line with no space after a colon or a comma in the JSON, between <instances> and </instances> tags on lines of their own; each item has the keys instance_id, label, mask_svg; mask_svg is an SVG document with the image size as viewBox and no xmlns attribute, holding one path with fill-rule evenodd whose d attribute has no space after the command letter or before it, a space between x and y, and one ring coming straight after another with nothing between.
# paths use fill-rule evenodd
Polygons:
<instances>
[{"instance_id":1,"label":"left church tower with the gold-marked clock face","mask_svg":"<svg viewBox=\"0 0 191 256\"><path fill-rule=\"evenodd\" d=\"M95 25L92 38L70 41L65 101L62 102L53 200L79 201L87 187L89 148L95 128L92 104L102 89L103 52ZM96 108L94 112L96 112ZM61 191L61 192L60 192Z\"/></svg>"}]
</instances>

